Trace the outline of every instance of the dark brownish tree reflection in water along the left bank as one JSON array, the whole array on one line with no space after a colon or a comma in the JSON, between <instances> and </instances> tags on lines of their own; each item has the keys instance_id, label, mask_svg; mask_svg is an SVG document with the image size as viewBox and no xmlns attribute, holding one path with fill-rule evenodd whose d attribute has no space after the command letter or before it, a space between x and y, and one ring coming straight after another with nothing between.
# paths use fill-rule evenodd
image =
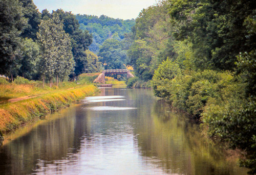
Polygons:
<instances>
[{"instance_id":1,"label":"dark brownish tree reflection in water along the left bank","mask_svg":"<svg viewBox=\"0 0 256 175\"><path fill-rule=\"evenodd\" d=\"M75 108L54 113L49 122L5 145L0 152L0 164L3 165L0 174L30 174L38 160L61 160L67 157L69 148L77 151L79 137L74 132L75 128L86 128L86 125L72 116L75 116Z\"/></svg>"}]
</instances>

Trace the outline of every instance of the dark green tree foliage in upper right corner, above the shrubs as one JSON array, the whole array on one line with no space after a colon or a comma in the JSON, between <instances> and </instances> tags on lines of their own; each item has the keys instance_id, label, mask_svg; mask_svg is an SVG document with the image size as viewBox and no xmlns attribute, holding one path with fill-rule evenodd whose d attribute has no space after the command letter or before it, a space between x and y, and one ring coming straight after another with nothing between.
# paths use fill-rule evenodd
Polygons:
<instances>
[{"instance_id":1,"label":"dark green tree foliage in upper right corner, above the shrubs","mask_svg":"<svg viewBox=\"0 0 256 175\"><path fill-rule=\"evenodd\" d=\"M174 35L193 44L197 68L218 70L232 70L240 52L255 48L255 34L247 26L253 23L249 19L254 11L254 1L242 0L170 0L169 8L177 26Z\"/></svg>"}]
</instances>

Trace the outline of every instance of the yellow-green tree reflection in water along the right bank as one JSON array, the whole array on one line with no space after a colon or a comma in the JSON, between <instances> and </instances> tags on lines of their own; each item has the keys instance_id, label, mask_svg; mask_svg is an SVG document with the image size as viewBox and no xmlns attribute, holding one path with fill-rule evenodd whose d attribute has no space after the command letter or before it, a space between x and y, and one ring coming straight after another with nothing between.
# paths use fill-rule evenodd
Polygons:
<instances>
[{"instance_id":1,"label":"yellow-green tree reflection in water along the right bank","mask_svg":"<svg viewBox=\"0 0 256 175\"><path fill-rule=\"evenodd\" d=\"M143 99L138 101L136 103L143 105ZM186 116L172 111L162 101L137 110L137 116L137 121L133 122L139 123L134 128L135 133L139 134L137 139L142 156L156 160L158 166L163 166L168 173L246 172L235 162L228 163L223 151L202 137L199 126L190 123Z\"/></svg>"}]
</instances>

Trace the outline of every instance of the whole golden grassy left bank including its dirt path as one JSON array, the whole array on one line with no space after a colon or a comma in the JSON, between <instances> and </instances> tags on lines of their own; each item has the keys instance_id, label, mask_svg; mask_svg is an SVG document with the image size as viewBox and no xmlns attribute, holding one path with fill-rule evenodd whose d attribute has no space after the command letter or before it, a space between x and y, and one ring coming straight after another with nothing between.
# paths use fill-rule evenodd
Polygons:
<instances>
[{"instance_id":1,"label":"whole golden grassy left bank including its dirt path","mask_svg":"<svg viewBox=\"0 0 256 175\"><path fill-rule=\"evenodd\" d=\"M93 79L95 76L91 76ZM77 82L62 82L58 87L42 88L41 82L14 81L0 83L0 142L4 134L24 124L44 118L47 114L70 106L84 96L99 92L96 86L87 83L89 77L84 76ZM17 80L17 79L16 79Z\"/></svg>"}]
</instances>

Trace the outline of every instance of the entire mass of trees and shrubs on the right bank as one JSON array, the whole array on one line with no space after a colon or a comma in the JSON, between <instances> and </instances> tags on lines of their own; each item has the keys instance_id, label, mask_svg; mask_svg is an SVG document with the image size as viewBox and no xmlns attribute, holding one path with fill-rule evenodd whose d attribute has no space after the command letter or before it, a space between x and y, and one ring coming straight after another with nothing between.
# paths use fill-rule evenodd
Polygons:
<instances>
[{"instance_id":1,"label":"entire mass of trees and shrubs on the right bank","mask_svg":"<svg viewBox=\"0 0 256 175\"><path fill-rule=\"evenodd\" d=\"M256 3L166 0L144 9L127 62L155 95L244 151L256 173ZM128 80L133 86L138 78Z\"/></svg>"}]
</instances>

